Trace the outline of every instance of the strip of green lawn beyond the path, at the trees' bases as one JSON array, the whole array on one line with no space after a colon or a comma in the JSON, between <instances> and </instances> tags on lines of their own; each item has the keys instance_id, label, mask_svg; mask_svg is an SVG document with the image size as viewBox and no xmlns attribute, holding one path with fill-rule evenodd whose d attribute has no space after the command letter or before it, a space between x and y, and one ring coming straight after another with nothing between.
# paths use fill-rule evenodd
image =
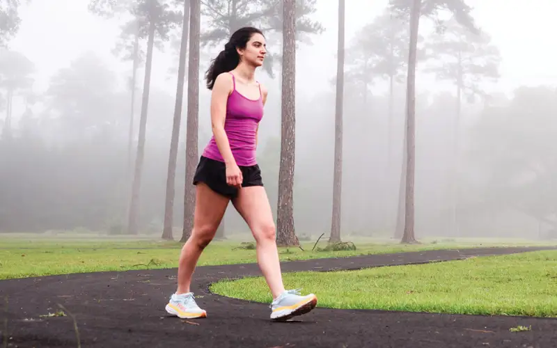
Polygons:
<instances>
[{"instance_id":1,"label":"strip of green lawn beyond the path, at the trees' bases","mask_svg":"<svg viewBox=\"0 0 557 348\"><path fill-rule=\"evenodd\" d=\"M234 236L231 236L234 237ZM214 241L201 255L198 265L256 262L256 251L237 248L235 240ZM299 248L280 248L283 261L313 258L348 257L373 253L423 251L437 248L473 248L477 246L517 246L540 244L524 240L457 239L423 240L423 244L401 245L389 239L355 238L355 251L311 251L315 242L304 242ZM326 242L320 242L324 247ZM178 267L182 243L155 239L86 236L44 237L40 235L0 235L0 280L28 276L47 276L91 271L125 271Z\"/></svg>"}]
</instances>

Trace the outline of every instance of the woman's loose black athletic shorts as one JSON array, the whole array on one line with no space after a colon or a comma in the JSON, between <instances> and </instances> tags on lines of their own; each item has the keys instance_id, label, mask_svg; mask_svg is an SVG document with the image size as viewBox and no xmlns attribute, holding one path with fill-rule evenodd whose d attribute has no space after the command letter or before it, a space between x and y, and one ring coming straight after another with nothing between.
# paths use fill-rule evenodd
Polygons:
<instances>
[{"instance_id":1,"label":"woman's loose black athletic shorts","mask_svg":"<svg viewBox=\"0 0 557 348\"><path fill-rule=\"evenodd\" d=\"M242 187L263 186L261 170L257 164L238 167L244 178ZM236 198L238 195L238 189L226 183L226 164L224 162L201 156L194 174L194 185L199 182L204 182L210 189L222 196Z\"/></svg>"}]
</instances>

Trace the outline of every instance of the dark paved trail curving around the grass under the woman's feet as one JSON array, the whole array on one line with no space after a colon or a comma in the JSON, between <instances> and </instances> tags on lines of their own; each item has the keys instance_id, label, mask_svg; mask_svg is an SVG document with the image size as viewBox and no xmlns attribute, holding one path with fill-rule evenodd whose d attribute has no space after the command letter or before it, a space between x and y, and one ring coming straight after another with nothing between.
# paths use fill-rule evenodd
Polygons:
<instances>
[{"instance_id":1,"label":"dark paved trail curving around the grass under the woman's feet","mask_svg":"<svg viewBox=\"0 0 557 348\"><path fill-rule=\"evenodd\" d=\"M354 258L284 262L283 271L360 269L471 256L548 249L476 248L422 251ZM176 255L178 257L178 254ZM555 347L557 320L398 313L379 310L317 308L292 322L271 322L269 306L210 294L221 278L260 275L256 264L198 267L192 291L208 317L182 321L164 311L175 290L175 269L71 274L0 281L8 310L0 313L0 331L8 347L77 347L72 318L40 315L61 303L77 319L81 347ZM3 317L3 318L2 318ZM532 326L512 333L510 327ZM2 346L3 347L3 346Z\"/></svg>"}]
</instances>

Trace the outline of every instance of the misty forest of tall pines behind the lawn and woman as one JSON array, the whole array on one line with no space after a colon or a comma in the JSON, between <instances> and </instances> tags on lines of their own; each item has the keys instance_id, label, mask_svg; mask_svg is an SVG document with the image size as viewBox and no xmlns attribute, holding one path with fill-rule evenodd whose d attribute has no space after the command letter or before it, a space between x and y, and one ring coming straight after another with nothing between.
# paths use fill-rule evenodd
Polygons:
<instances>
[{"instance_id":1,"label":"misty forest of tall pines behind the lawn and woman","mask_svg":"<svg viewBox=\"0 0 557 348\"><path fill-rule=\"evenodd\" d=\"M318 0L87 0L118 24L111 54L127 70L87 50L45 88L41 62L12 48L35 2L0 1L0 232L185 241L211 136L203 76L256 26L269 46L258 161L279 244L557 237L557 87L498 89L503 56L469 1L389 0L345 35L345 0L334 26ZM335 70L300 66L329 31ZM151 84L157 52L174 93ZM327 86L312 93L310 74ZM219 238L237 233L249 230L230 205Z\"/></svg>"}]
</instances>

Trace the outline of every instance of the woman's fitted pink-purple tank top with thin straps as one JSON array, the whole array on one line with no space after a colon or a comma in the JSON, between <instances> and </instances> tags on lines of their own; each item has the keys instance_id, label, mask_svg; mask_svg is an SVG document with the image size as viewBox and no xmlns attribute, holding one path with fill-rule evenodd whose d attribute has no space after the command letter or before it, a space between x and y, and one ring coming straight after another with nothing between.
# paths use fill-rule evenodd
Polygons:
<instances>
[{"instance_id":1,"label":"woman's fitted pink-purple tank top with thin straps","mask_svg":"<svg viewBox=\"0 0 557 348\"><path fill-rule=\"evenodd\" d=\"M251 100L236 90L236 79L232 75L233 91L226 103L226 120L224 131L228 136L230 150L238 166L253 166L256 161L256 132L263 117L263 97L259 86L259 99ZM214 141L214 136L203 150L203 157L224 161Z\"/></svg>"}]
</instances>

